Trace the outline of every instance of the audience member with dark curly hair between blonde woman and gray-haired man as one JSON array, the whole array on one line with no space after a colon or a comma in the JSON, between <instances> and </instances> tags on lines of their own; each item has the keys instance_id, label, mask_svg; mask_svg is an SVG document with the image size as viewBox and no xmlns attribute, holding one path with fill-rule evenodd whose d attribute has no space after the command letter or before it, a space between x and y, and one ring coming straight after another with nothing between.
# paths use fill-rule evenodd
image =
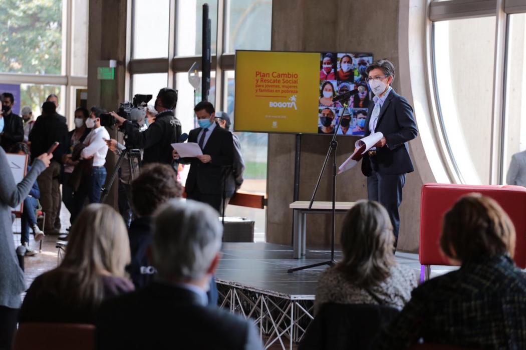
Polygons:
<instances>
[{"instance_id":1,"label":"audience member with dark curly hair between blonde woman and gray-haired man","mask_svg":"<svg viewBox=\"0 0 526 350\"><path fill-rule=\"evenodd\" d=\"M155 271L146 255L153 238L152 215L161 204L182 194L177 174L168 164L146 164L131 182L131 206L137 218L128 229L131 263L127 270L136 289L148 285Z\"/></svg>"}]
</instances>

